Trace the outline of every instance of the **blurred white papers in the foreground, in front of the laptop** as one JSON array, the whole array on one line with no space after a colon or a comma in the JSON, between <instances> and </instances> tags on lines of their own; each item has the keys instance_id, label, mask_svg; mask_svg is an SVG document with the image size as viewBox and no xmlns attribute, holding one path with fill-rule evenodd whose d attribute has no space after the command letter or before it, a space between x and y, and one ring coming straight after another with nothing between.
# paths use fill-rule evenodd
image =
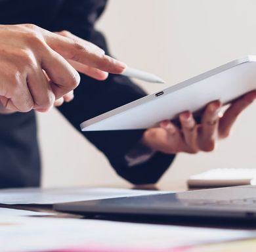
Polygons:
<instances>
[{"instance_id":1,"label":"blurred white papers in the foreground, in front of the laptop","mask_svg":"<svg viewBox=\"0 0 256 252\"><path fill-rule=\"evenodd\" d=\"M243 230L0 216L0 248L6 252L58 251L72 247L84 251L164 252L255 236L255 231Z\"/></svg>"}]
</instances>

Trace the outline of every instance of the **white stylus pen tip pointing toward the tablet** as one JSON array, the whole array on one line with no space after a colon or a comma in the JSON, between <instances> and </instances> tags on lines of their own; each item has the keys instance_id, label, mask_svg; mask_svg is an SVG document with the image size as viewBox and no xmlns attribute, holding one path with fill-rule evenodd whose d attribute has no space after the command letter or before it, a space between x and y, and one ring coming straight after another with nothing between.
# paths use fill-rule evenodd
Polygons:
<instances>
[{"instance_id":1,"label":"white stylus pen tip pointing toward the tablet","mask_svg":"<svg viewBox=\"0 0 256 252\"><path fill-rule=\"evenodd\" d=\"M135 68L126 68L121 75L125 75L127 77L133 77L136 79L141 79L142 81L148 81L152 83L165 83L163 79L158 77L157 75L150 74L144 71L137 70Z\"/></svg>"}]
</instances>

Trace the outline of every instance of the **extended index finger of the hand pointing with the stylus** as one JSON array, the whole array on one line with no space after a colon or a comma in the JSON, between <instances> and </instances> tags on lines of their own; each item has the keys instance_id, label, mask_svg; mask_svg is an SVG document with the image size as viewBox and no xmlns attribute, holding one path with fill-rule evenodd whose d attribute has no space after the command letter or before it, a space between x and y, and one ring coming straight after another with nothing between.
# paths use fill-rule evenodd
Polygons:
<instances>
[{"instance_id":1,"label":"extended index finger of the hand pointing with the stylus","mask_svg":"<svg viewBox=\"0 0 256 252\"><path fill-rule=\"evenodd\" d=\"M68 60L74 60L111 74L121 74L126 68L123 62L95 50L77 39L64 37L47 30L43 30L43 34L49 47Z\"/></svg>"}]
</instances>

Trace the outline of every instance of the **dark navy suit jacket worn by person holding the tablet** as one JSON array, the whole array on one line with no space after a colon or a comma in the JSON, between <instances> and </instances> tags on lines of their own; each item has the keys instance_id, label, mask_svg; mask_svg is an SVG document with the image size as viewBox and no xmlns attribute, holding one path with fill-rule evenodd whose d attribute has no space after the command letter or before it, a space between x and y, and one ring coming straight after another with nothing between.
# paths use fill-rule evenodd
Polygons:
<instances>
[{"instance_id":1,"label":"dark navy suit jacket worn by person holding the tablet","mask_svg":"<svg viewBox=\"0 0 256 252\"><path fill-rule=\"evenodd\" d=\"M0 24L32 23L50 31L69 30L109 54L104 37L94 28L105 5L106 0L0 0ZM110 75L106 81L100 82L81 75L75 99L59 110L81 132L79 124L82 121L144 95L142 89L123 76ZM40 160L35 113L0 115L0 121L0 187L38 186ZM157 153L145 163L129 167L125 155L142 137L142 133L112 131L81 134L104 152L121 177L134 184L151 184L161 177L174 156Z\"/></svg>"}]
</instances>

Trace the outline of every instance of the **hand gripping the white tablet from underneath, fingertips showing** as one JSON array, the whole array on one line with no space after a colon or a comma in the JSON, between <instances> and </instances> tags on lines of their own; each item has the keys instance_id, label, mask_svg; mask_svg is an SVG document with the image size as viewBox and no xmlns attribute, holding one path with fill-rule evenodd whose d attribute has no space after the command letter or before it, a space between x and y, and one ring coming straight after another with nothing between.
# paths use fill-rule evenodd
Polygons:
<instances>
[{"instance_id":1,"label":"hand gripping the white tablet from underneath, fingertips showing","mask_svg":"<svg viewBox=\"0 0 256 252\"><path fill-rule=\"evenodd\" d=\"M205 108L200 124L196 123L191 112L183 112L179 115L181 127L171 121L162 121L160 127L145 131L142 142L165 154L211 152L216 140L228 137L237 117L255 98L256 91L247 93L232 102L223 116L219 116L221 102L211 102Z\"/></svg>"}]
</instances>

